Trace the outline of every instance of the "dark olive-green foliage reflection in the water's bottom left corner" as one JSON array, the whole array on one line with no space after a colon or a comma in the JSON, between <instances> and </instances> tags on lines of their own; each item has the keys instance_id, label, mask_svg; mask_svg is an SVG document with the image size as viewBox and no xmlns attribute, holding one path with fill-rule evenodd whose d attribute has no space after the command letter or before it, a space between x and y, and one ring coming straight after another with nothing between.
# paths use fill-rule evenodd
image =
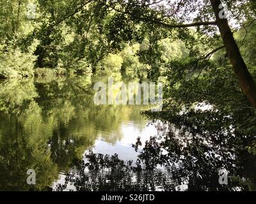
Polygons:
<instances>
[{"instance_id":1,"label":"dark olive-green foliage reflection in the water's bottom left corner","mask_svg":"<svg viewBox=\"0 0 256 204\"><path fill-rule=\"evenodd\" d=\"M58 176L52 164L45 138L29 135L14 115L9 121L1 115L0 189L14 191L43 190ZM36 171L36 185L26 184L26 171Z\"/></svg>"}]
</instances>

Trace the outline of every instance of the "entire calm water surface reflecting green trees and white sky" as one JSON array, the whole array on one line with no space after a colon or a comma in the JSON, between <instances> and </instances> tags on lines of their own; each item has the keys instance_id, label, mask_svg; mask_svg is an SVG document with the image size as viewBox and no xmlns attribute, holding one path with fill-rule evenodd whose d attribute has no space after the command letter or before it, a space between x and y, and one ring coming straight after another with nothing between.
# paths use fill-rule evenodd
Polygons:
<instances>
[{"instance_id":1,"label":"entire calm water surface reflecting green trees and white sky","mask_svg":"<svg viewBox=\"0 0 256 204\"><path fill-rule=\"evenodd\" d=\"M107 80L0 81L1 191L256 189L255 157L228 145L228 138L184 135L145 119L141 111L149 106L95 105L93 84ZM227 185L219 182L221 168ZM29 169L35 185L27 183Z\"/></svg>"}]
</instances>

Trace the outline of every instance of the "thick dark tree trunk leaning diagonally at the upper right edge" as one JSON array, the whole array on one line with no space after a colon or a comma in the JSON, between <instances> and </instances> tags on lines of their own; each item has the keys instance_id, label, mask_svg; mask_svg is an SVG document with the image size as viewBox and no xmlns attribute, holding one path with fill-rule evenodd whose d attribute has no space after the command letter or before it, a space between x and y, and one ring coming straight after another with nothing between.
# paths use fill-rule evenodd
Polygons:
<instances>
[{"instance_id":1,"label":"thick dark tree trunk leaning diagonally at the upper right edge","mask_svg":"<svg viewBox=\"0 0 256 204\"><path fill-rule=\"evenodd\" d=\"M251 105L256 108L256 85L239 51L230 26L228 25L228 20L226 18L221 19L219 17L219 13L222 10L219 8L220 4L220 0L211 0L212 9L216 16L216 23L219 27L223 43L227 50L228 58L230 59L234 72L236 73L242 91L250 101Z\"/></svg>"}]
</instances>

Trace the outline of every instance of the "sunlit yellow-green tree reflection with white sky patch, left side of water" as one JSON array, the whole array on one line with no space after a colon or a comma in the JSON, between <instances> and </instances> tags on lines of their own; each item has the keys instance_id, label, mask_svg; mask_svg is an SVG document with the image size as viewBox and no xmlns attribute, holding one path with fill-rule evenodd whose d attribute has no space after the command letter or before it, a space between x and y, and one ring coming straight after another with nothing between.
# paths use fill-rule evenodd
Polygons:
<instances>
[{"instance_id":1,"label":"sunlit yellow-green tree reflection with white sky patch, left side of water","mask_svg":"<svg viewBox=\"0 0 256 204\"><path fill-rule=\"evenodd\" d=\"M122 140L125 126L132 128L132 138L140 135L147 124L140 115L145 107L94 105L93 81L99 80L108 77L0 82L1 190L49 189L85 150L104 152L105 146L109 152L115 146L122 153L124 141L131 142L129 135ZM26 184L28 169L36 171L35 186Z\"/></svg>"}]
</instances>

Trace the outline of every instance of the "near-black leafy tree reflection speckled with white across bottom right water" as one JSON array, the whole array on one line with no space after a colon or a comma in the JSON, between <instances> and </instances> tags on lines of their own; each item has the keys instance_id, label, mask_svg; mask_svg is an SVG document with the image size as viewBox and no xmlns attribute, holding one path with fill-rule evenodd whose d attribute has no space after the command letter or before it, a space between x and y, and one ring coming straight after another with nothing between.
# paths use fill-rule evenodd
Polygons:
<instances>
[{"instance_id":1,"label":"near-black leafy tree reflection speckled with white across bottom right water","mask_svg":"<svg viewBox=\"0 0 256 204\"><path fill-rule=\"evenodd\" d=\"M150 138L141 150L138 139L132 145L140 152L135 163L116 154L89 152L55 190L67 190L70 184L77 191L255 190L255 157L241 148L245 140L222 130L209 134L204 129L198 135L192 127L163 124L157 138ZM228 185L219 184L221 168L228 170Z\"/></svg>"}]
</instances>

